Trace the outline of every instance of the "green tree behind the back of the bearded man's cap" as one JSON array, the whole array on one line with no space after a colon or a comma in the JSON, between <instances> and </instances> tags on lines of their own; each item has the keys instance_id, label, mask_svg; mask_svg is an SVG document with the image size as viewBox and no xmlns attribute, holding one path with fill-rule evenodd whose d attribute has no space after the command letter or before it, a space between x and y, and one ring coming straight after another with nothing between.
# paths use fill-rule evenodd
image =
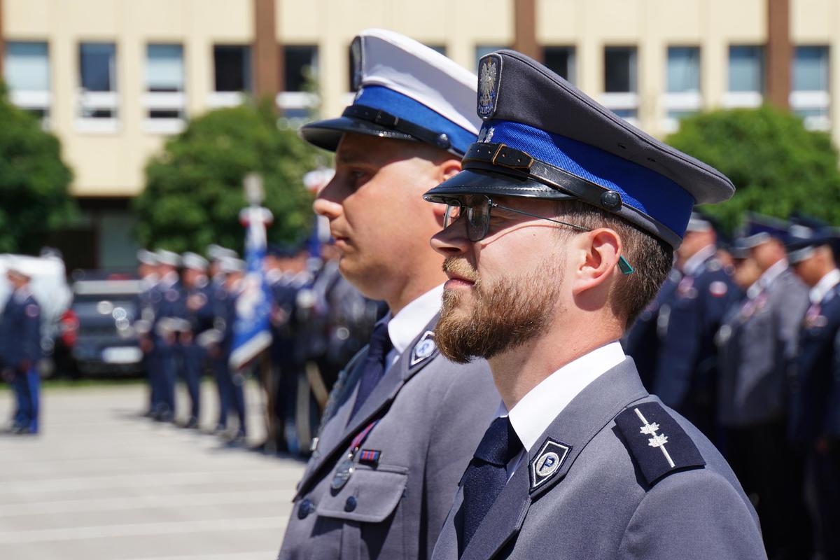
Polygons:
<instances>
[{"instance_id":1,"label":"green tree behind the back of the bearded man's cap","mask_svg":"<svg viewBox=\"0 0 840 560\"><path fill-rule=\"evenodd\" d=\"M791 113L769 106L701 113L666 141L735 184L730 201L708 208L730 231L747 211L783 218L798 211L840 224L837 150L827 133L806 130Z\"/></svg>"}]
</instances>

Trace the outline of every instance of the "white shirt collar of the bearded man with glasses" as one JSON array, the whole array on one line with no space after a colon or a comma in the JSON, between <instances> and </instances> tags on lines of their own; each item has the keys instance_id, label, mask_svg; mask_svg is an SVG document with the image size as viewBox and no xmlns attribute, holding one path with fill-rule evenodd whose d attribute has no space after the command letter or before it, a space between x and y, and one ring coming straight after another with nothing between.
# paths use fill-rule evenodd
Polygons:
<instances>
[{"instance_id":1,"label":"white shirt collar of the bearded man with glasses","mask_svg":"<svg viewBox=\"0 0 840 560\"><path fill-rule=\"evenodd\" d=\"M496 416L510 416L513 430L528 452L580 391L626 358L621 343L596 348L543 379L509 413L501 403Z\"/></svg>"}]
</instances>

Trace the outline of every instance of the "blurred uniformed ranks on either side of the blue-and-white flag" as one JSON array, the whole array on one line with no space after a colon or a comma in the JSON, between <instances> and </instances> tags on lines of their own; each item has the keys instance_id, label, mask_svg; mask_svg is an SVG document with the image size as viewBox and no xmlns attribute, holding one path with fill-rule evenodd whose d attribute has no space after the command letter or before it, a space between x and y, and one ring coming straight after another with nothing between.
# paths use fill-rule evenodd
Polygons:
<instances>
[{"instance_id":1,"label":"blurred uniformed ranks on either side of the blue-and-white flag","mask_svg":"<svg viewBox=\"0 0 840 560\"><path fill-rule=\"evenodd\" d=\"M218 395L214 433L234 445L248 435L246 406L265 419L268 453L305 456L329 388L339 370L370 337L381 306L339 275L338 254L301 246L269 245L265 280L272 296L270 349L243 369L232 369L237 300L246 272L232 249L211 245L195 253L140 250L135 331L150 385L145 415L198 428L201 380L212 376ZM260 400L245 400L245 379L259 380ZM176 382L189 394L189 409L176 411ZM234 416L231 422L230 417Z\"/></svg>"}]
</instances>

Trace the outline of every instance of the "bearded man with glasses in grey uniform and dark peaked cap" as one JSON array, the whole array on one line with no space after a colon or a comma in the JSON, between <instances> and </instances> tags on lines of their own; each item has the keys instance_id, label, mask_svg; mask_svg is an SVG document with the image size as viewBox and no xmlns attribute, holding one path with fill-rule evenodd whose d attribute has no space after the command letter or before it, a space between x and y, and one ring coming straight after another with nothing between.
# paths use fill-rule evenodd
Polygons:
<instances>
[{"instance_id":1,"label":"bearded man with glasses in grey uniform and dark peaked cap","mask_svg":"<svg viewBox=\"0 0 840 560\"><path fill-rule=\"evenodd\" d=\"M501 404L433 558L764 558L726 461L617 342L732 183L525 55L479 72L479 142L426 194L448 205L435 337L488 359Z\"/></svg>"}]
</instances>

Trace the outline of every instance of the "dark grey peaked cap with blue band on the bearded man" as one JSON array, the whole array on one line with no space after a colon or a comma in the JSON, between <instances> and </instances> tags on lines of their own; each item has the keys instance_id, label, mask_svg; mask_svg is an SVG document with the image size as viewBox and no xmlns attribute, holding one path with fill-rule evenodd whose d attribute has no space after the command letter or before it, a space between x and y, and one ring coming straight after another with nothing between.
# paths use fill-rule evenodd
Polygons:
<instances>
[{"instance_id":1,"label":"dark grey peaked cap with blue band on the bearded man","mask_svg":"<svg viewBox=\"0 0 840 560\"><path fill-rule=\"evenodd\" d=\"M663 144L536 60L512 50L479 63L484 120L464 170L425 195L577 199L677 247L695 204L735 192L720 171Z\"/></svg>"}]
</instances>

